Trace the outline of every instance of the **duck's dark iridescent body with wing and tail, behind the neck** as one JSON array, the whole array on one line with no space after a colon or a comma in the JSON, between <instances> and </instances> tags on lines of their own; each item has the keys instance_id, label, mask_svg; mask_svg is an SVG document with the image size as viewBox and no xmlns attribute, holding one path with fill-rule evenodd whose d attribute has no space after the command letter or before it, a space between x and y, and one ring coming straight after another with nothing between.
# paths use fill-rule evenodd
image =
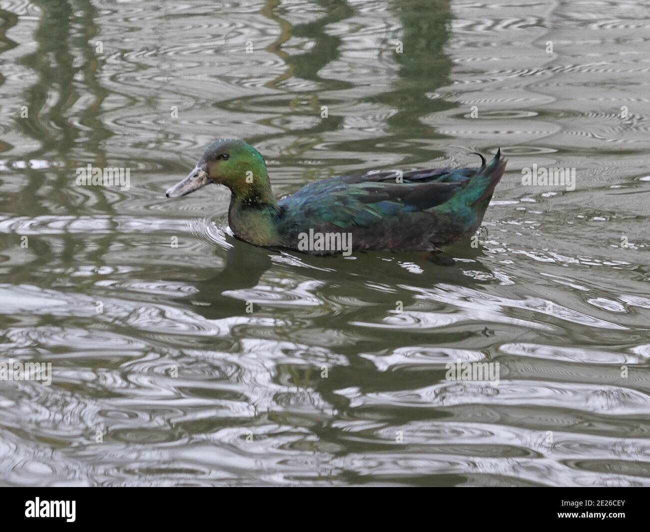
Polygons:
<instances>
[{"instance_id":1,"label":"duck's dark iridescent body with wing and tail, behind the neck","mask_svg":"<svg viewBox=\"0 0 650 532\"><path fill-rule=\"evenodd\" d=\"M480 168L374 171L316 181L279 201L278 233L292 249L300 249L300 235L310 230L349 234L352 249L435 249L478 229L504 167L499 153Z\"/></svg>"}]
</instances>

